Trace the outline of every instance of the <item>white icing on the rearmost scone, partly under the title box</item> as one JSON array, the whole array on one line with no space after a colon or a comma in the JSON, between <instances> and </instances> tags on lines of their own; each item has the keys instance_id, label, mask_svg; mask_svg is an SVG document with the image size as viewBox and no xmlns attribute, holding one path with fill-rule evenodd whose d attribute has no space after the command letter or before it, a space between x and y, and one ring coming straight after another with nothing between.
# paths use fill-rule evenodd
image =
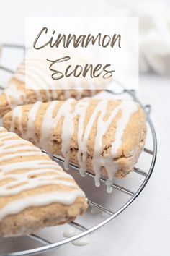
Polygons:
<instances>
[{"instance_id":1,"label":"white icing on the rearmost scone, partly under the title box","mask_svg":"<svg viewBox=\"0 0 170 256\"><path fill-rule=\"evenodd\" d=\"M64 64L58 63L61 71L65 71ZM26 69L27 68L27 79L26 79ZM93 85L92 82L86 77L86 82L84 80L82 82L72 79L69 85L66 85L66 82L62 82L62 80L52 80L50 78L50 72L48 72L47 65L45 61L42 59L27 59L27 62L22 61L19 64L16 72L13 77L24 84L27 82L27 88L33 90L37 101L53 101L58 98L58 90L55 89L55 84L58 83L58 86L63 88L63 99L70 98L70 90L71 85L76 89L76 99L79 100L81 98L81 94L83 93L84 84L89 89L95 89L96 85ZM81 84L82 83L82 84ZM64 85L64 86L63 86ZM82 87L82 88L81 88ZM69 90L70 89L70 90ZM45 94L45 98L42 98L42 93ZM91 90L91 95L94 95L95 90ZM9 82L9 87L4 90L4 95L6 95L6 101L9 104L10 108L14 108L15 106L20 106L27 103L27 93L25 91L24 86L19 88L17 84L13 81Z\"/></svg>"}]
</instances>

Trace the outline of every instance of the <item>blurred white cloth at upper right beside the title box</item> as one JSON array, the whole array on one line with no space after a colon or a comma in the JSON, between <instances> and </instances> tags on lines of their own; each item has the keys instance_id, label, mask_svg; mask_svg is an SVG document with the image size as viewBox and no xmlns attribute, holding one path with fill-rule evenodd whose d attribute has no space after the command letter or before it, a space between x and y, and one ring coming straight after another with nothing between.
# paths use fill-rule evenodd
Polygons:
<instances>
[{"instance_id":1,"label":"blurred white cloth at upper right beside the title box","mask_svg":"<svg viewBox=\"0 0 170 256\"><path fill-rule=\"evenodd\" d=\"M140 1L130 8L139 17L140 72L170 74L170 6L161 1Z\"/></svg>"}]
</instances>

